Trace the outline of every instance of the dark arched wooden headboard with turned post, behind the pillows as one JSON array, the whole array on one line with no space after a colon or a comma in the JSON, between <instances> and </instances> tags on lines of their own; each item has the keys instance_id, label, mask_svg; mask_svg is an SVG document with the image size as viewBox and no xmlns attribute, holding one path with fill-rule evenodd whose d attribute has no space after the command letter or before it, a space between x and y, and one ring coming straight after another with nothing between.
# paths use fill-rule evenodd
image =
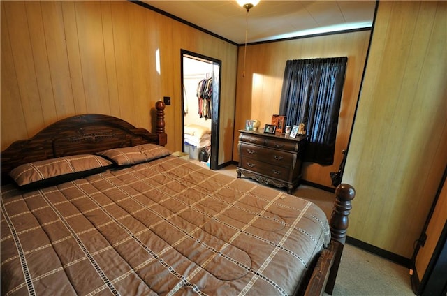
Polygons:
<instances>
[{"instance_id":1,"label":"dark arched wooden headboard with turned post, behind the pillows","mask_svg":"<svg viewBox=\"0 0 447 296\"><path fill-rule=\"evenodd\" d=\"M61 119L27 140L13 142L1 152L1 184L10 182L8 172L32 161L75 154L96 154L105 149L145 143L166 145L164 108L158 101L156 133L135 128L129 122L102 114L82 114Z\"/></svg>"}]
</instances>

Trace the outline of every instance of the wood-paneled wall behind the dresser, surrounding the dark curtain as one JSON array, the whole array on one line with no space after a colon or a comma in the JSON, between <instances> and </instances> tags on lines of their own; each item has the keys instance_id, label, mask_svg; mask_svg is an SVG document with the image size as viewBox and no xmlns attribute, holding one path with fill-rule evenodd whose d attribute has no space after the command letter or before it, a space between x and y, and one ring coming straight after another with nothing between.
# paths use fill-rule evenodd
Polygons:
<instances>
[{"instance_id":1,"label":"wood-paneled wall behind the dresser, surrounding the dark curtain","mask_svg":"<svg viewBox=\"0 0 447 296\"><path fill-rule=\"evenodd\" d=\"M335 159L333 165L305 163L303 179L323 186L331 186L329 172L337 172L342 161L342 150L348 147L354 112L365 66L370 31L318 36L274 43L247 46L245 77L244 51L240 50L237 72L237 101L233 160L237 153L237 130L244 129L245 120L258 119L261 127L270 124L272 114L278 114L284 68L289 59L348 57L346 79L340 108Z\"/></svg>"}]
</instances>

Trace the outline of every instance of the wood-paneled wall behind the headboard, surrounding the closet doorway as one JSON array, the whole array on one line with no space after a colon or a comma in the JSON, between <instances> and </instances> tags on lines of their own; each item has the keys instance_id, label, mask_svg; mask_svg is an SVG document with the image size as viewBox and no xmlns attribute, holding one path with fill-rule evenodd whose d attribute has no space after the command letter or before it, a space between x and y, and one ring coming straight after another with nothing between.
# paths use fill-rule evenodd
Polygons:
<instances>
[{"instance_id":1,"label":"wood-paneled wall behind the headboard, surrounding the closet doorway","mask_svg":"<svg viewBox=\"0 0 447 296\"><path fill-rule=\"evenodd\" d=\"M129 1L1 1L1 149L74 114L150 131L170 96L167 147L181 151L181 49L222 61L219 142L231 142L237 46ZM232 152L221 145L219 163Z\"/></svg>"}]
</instances>

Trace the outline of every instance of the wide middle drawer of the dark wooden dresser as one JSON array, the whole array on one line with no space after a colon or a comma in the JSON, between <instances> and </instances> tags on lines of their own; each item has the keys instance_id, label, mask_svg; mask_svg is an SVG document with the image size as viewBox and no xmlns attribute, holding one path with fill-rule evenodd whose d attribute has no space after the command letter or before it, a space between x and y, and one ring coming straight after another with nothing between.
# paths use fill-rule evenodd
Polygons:
<instances>
[{"instance_id":1,"label":"wide middle drawer of the dark wooden dresser","mask_svg":"<svg viewBox=\"0 0 447 296\"><path fill-rule=\"evenodd\" d=\"M291 152L285 152L246 143L239 144L239 153L241 156L247 156L258 161L271 163L272 165L281 165L284 168L290 168L291 164L294 163L296 158L295 154Z\"/></svg>"}]
</instances>

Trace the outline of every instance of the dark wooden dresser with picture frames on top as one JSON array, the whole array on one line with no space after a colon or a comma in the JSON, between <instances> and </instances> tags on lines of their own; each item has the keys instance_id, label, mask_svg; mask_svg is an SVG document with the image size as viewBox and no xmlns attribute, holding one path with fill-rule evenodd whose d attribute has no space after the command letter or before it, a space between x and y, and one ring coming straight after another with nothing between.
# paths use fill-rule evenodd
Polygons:
<instances>
[{"instance_id":1,"label":"dark wooden dresser with picture frames on top","mask_svg":"<svg viewBox=\"0 0 447 296\"><path fill-rule=\"evenodd\" d=\"M307 136L289 138L284 133L239 132L237 177L244 174L263 184L287 187L287 192L292 193L300 184Z\"/></svg>"}]
</instances>

